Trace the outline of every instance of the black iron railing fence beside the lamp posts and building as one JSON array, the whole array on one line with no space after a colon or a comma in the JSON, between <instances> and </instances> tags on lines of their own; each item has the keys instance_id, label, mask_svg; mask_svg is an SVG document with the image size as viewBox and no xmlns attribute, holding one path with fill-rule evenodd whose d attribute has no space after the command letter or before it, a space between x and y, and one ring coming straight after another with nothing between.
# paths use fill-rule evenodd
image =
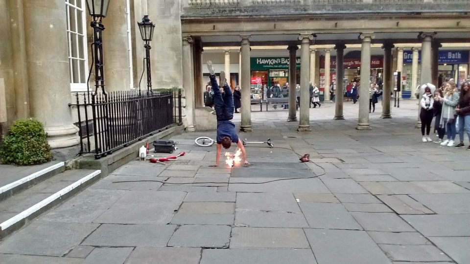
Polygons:
<instances>
[{"instance_id":1,"label":"black iron railing fence beside the lamp posts and building","mask_svg":"<svg viewBox=\"0 0 470 264\"><path fill-rule=\"evenodd\" d=\"M172 125L183 123L181 90L75 93L80 154L96 159Z\"/></svg>"}]
</instances>

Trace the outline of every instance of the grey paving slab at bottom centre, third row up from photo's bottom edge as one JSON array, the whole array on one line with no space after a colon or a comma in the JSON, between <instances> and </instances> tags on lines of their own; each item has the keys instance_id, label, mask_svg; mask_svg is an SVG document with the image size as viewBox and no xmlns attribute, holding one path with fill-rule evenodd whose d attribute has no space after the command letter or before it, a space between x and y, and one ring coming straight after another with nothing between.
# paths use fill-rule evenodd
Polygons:
<instances>
[{"instance_id":1,"label":"grey paving slab at bottom centre, third row up from photo's bottom edge","mask_svg":"<svg viewBox=\"0 0 470 264\"><path fill-rule=\"evenodd\" d=\"M235 226L248 227L309 227L302 213L263 212L236 209Z\"/></svg>"}]
</instances>

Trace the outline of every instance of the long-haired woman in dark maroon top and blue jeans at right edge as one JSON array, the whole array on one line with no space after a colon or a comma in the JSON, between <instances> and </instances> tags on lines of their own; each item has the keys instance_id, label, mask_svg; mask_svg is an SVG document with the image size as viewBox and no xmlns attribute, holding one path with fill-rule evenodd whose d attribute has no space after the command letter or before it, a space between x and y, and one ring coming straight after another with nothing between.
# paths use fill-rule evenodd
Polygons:
<instances>
[{"instance_id":1,"label":"long-haired woman in dark maroon top and blue jeans at right edge","mask_svg":"<svg viewBox=\"0 0 470 264\"><path fill-rule=\"evenodd\" d=\"M464 145L464 129L467 131L467 135L470 140L470 83L463 83L460 87L459 103L455 111L458 114L458 126L460 143L456 145L456 148L463 148ZM467 148L470 150L470 146Z\"/></svg>"}]
</instances>

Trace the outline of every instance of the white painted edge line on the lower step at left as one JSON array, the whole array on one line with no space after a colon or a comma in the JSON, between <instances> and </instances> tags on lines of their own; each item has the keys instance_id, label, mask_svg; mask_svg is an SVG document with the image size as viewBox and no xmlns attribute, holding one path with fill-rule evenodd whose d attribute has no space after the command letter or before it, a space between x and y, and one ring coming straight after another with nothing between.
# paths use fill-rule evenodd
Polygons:
<instances>
[{"instance_id":1,"label":"white painted edge line on the lower step at left","mask_svg":"<svg viewBox=\"0 0 470 264\"><path fill-rule=\"evenodd\" d=\"M24 210L23 212L19 213L18 215L2 222L0 224L0 230L5 230L6 228L10 227L11 225L17 223L18 221L20 220L23 220L24 218L30 216L31 214L33 214L34 212L38 211L39 209L41 209L42 207L46 206L47 204L51 203L52 201L54 201L55 199L67 194L68 192L70 192L71 190L77 188L78 186L80 186L82 183L88 181L89 179L93 178L94 176L97 176L101 173L101 170L96 170L94 171L93 173L75 181L74 183L72 183L71 185L65 187L64 189L58 191L57 193L47 197L46 199L36 203L35 205L29 207L28 209Z\"/></svg>"}]
</instances>

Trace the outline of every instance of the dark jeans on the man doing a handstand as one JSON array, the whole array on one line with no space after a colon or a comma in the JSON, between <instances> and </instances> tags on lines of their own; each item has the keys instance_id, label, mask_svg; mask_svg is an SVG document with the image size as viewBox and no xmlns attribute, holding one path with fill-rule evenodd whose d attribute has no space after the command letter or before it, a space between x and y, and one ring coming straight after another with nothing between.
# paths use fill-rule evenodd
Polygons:
<instances>
[{"instance_id":1,"label":"dark jeans on the man doing a handstand","mask_svg":"<svg viewBox=\"0 0 470 264\"><path fill-rule=\"evenodd\" d=\"M217 120L231 120L234 118L234 95L232 89L224 84L224 94L220 91L215 75L209 76L211 79L212 90L214 91L213 100L215 107L215 114L217 115Z\"/></svg>"}]
</instances>

